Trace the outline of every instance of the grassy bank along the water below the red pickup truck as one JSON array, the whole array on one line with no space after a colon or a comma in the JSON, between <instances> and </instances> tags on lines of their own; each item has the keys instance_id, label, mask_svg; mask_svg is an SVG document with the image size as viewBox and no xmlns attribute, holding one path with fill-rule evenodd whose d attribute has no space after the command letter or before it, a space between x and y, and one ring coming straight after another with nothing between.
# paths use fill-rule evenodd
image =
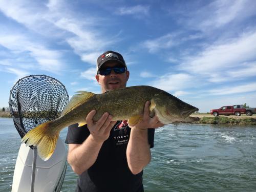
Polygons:
<instances>
[{"instance_id":1,"label":"grassy bank along the water below the red pickup truck","mask_svg":"<svg viewBox=\"0 0 256 192\"><path fill-rule=\"evenodd\" d=\"M202 117L195 123L230 124L230 125L256 125L255 118L228 118L228 117Z\"/></svg>"}]
</instances>

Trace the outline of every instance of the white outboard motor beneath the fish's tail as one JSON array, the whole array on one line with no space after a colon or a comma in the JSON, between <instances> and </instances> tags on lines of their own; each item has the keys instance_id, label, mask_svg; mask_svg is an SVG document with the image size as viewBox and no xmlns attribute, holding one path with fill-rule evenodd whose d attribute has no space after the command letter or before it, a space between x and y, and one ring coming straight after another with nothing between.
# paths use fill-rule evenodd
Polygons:
<instances>
[{"instance_id":1,"label":"white outboard motor beneath the fish's tail","mask_svg":"<svg viewBox=\"0 0 256 192\"><path fill-rule=\"evenodd\" d=\"M58 139L55 151L48 161L36 158L34 191L60 191L67 167L66 147ZM12 192L31 190L31 173L33 165L33 150L22 144L14 169Z\"/></svg>"}]
</instances>

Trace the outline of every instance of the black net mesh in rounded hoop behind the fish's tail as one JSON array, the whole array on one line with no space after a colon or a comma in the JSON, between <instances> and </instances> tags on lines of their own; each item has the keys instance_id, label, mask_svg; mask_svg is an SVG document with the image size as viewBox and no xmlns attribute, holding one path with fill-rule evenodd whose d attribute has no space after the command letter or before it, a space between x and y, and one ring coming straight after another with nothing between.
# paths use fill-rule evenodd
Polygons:
<instances>
[{"instance_id":1,"label":"black net mesh in rounded hoop behind the fish's tail","mask_svg":"<svg viewBox=\"0 0 256 192\"><path fill-rule=\"evenodd\" d=\"M13 86L9 106L20 137L37 125L60 116L69 101L63 84L46 75L30 75Z\"/></svg>"}]
</instances>

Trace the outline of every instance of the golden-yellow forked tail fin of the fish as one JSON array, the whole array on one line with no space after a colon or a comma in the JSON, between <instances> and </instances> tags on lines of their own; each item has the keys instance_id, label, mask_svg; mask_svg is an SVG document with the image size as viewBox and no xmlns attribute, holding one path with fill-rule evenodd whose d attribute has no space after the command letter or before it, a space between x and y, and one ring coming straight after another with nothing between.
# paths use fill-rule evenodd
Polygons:
<instances>
[{"instance_id":1,"label":"golden-yellow forked tail fin of the fish","mask_svg":"<svg viewBox=\"0 0 256 192\"><path fill-rule=\"evenodd\" d=\"M27 146L36 146L38 156L45 161L52 156L59 136L59 132L52 131L52 122L48 121L36 126L22 138L22 143L26 143Z\"/></svg>"}]
</instances>

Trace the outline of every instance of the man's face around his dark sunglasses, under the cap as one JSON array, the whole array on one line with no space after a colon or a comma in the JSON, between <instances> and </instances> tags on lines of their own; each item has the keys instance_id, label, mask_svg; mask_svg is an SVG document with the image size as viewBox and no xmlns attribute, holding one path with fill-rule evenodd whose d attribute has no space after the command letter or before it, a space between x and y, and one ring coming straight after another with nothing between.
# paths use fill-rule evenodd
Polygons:
<instances>
[{"instance_id":1,"label":"man's face around his dark sunglasses, under the cap","mask_svg":"<svg viewBox=\"0 0 256 192\"><path fill-rule=\"evenodd\" d=\"M120 66L120 64L117 61L108 61L104 63L101 68L115 66ZM129 79L129 74L129 71L125 71L121 74L116 74L113 70L111 70L111 73L109 75L98 74L95 77L100 84L102 93L105 93L106 91L125 88L126 82Z\"/></svg>"}]
</instances>

